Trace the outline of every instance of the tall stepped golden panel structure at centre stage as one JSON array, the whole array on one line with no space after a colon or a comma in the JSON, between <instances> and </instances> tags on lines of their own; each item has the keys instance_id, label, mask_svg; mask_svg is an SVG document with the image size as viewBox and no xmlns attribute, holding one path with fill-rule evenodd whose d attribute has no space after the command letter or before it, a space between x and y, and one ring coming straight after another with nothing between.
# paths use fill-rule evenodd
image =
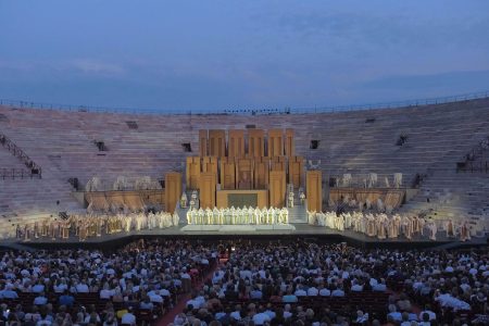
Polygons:
<instances>
[{"instance_id":1,"label":"tall stepped golden panel structure at centre stage","mask_svg":"<svg viewBox=\"0 0 489 326\"><path fill-rule=\"evenodd\" d=\"M216 200L227 203L220 200L224 195L217 196L224 190L266 190L260 203L283 208L287 184L294 189L305 184L304 159L294 155L293 129L199 130L199 154L187 158L186 185L200 191L202 208L214 208Z\"/></svg>"}]
</instances>

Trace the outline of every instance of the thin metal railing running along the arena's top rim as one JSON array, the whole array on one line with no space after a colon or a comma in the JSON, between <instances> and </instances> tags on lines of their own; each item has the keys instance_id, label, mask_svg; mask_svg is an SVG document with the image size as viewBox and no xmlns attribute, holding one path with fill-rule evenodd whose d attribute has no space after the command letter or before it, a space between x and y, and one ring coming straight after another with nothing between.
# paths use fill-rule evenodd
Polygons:
<instances>
[{"instance_id":1,"label":"thin metal railing running along the arena's top rim","mask_svg":"<svg viewBox=\"0 0 489 326\"><path fill-rule=\"evenodd\" d=\"M268 114L305 114L305 113L328 113L328 112L349 112L378 109L413 108L419 105L444 104L453 102L463 102L476 99L486 99L489 97L489 90L437 97L428 99L415 99L405 101L390 101L368 104L352 105L333 105L314 108L267 108L267 109L215 109L215 110L181 110L181 109L135 109L135 108L108 108L96 105L73 105L60 103L43 103L33 101L0 99L0 105L10 108L27 108L40 110L60 110L74 112L100 112L100 113L126 113L126 114L172 114L172 115L202 115L202 114L226 114L226 115L268 115Z\"/></svg>"}]
</instances>

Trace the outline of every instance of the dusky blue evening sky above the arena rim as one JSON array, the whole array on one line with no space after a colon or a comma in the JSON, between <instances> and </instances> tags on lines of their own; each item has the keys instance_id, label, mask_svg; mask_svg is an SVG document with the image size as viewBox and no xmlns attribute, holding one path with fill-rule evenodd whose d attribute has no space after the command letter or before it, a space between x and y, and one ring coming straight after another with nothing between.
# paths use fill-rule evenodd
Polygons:
<instances>
[{"instance_id":1,"label":"dusky blue evening sky above the arena rim","mask_svg":"<svg viewBox=\"0 0 489 326\"><path fill-rule=\"evenodd\" d=\"M489 1L0 0L0 98L308 108L489 90Z\"/></svg>"}]
</instances>

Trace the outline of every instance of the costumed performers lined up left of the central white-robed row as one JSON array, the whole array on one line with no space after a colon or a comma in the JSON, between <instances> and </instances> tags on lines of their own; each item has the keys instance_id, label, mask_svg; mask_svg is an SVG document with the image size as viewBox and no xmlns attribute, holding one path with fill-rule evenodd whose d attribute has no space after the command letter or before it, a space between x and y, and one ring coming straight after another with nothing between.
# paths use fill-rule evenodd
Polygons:
<instances>
[{"instance_id":1,"label":"costumed performers lined up left of the central white-robed row","mask_svg":"<svg viewBox=\"0 0 489 326\"><path fill-rule=\"evenodd\" d=\"M17 224L15 236L20 240L29 241L38 238L68 239L78 237L85 241L90 237L101 237L117 233L139 231L142 229L166 228L177 226L179 216L167 212L118 213L114 215L80 214L70 215L66 220L48 217L41 222Z\"/></svg>"}]
</instances>

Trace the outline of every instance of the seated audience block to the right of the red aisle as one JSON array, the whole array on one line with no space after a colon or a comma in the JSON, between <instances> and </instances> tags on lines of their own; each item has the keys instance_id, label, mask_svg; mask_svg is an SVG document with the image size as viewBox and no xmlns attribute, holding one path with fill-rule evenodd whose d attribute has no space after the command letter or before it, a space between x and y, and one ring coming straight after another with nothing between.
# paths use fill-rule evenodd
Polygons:
<instances>
[{"instance_id":1,"label":"seated audience block to the right of the red aisle","mask_svg":"<svg viewBox=\"0 0 489 326\"><path fill-rule=\"evenodd\" d=\"M239 242L173 325L488 325L488 259Z\"/></svg>"}]
</instances>

